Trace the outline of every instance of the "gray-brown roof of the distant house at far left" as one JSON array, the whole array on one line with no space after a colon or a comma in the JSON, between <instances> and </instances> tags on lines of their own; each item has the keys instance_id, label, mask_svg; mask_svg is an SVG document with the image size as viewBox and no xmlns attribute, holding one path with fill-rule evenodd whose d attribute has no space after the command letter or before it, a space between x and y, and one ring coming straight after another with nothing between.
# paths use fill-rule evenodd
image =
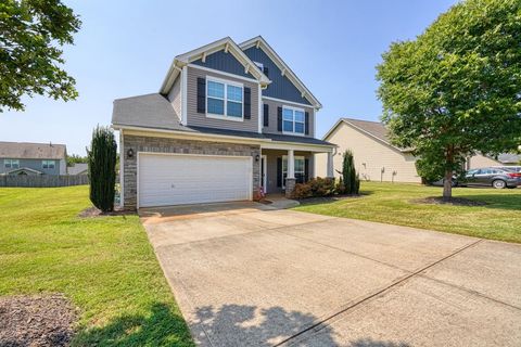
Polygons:
<instances>
[{"instance_id":1,"label":"gray-brown roof of the distant house at far left","mask_svg":"<svg viewBox=\"0 0 521 347\"><path fill-rule=\"evenodd\" d=\"M0 158L10 159L64 159L65 144L0 142Z\"/></svg>"}]
</instances>

